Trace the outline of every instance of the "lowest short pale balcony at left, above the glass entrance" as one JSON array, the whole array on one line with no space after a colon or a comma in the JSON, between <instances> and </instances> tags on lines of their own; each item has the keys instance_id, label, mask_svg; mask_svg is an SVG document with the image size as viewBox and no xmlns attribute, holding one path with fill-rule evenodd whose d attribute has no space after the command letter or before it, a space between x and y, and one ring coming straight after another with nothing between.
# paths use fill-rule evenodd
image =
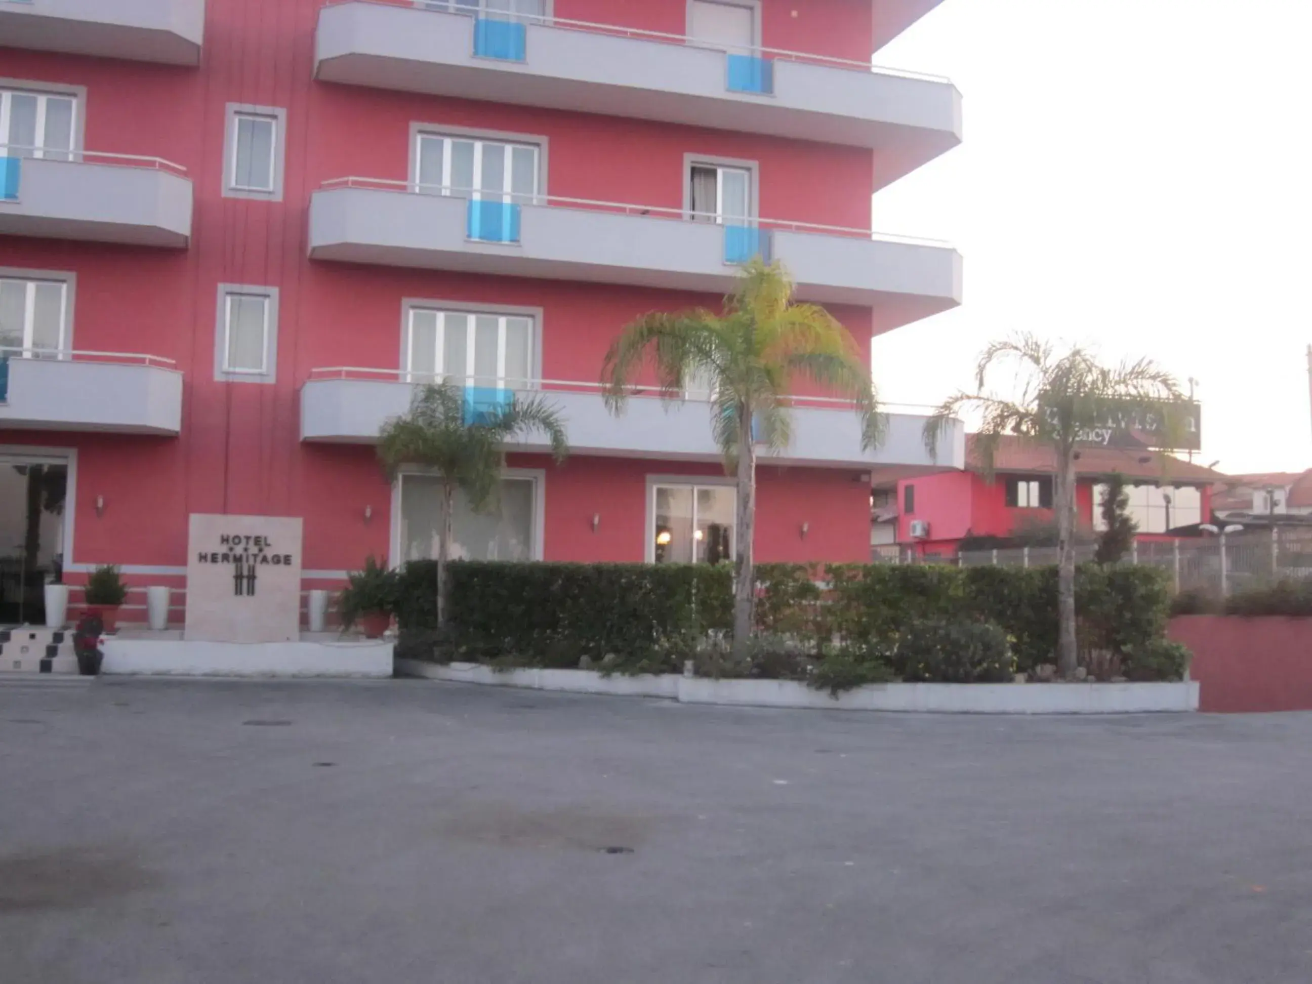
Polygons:
<instances>
[{"instance_id":1,"label":"lowest short pale balcony at left, above the glass entrance","mask_svg":"<svg viewBox=\"0 0 1312 984\"><path fill-rule=\"evenodd\" d=\"M176 436L182 374L156 356L0 349L0 428Z\"/></svg>"}]
</instances>

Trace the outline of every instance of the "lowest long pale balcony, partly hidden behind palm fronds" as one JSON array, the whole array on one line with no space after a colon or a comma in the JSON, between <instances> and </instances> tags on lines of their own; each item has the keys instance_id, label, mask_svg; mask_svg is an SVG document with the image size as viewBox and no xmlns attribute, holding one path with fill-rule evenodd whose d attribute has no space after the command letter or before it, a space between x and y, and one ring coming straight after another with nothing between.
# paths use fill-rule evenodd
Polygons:
<instances>
[{"instance_id":1,"label":"lowest long pale balcony, partly hidden behind palm fronds","mask_svg":"<svg viewBox=\"0 0 1312 984\"><path fill-rule=\"evenodd\" d=\"M300 440L323 443L369 445L392 417L411 404L415 386L396 370L323 369L300 388ZM527 392L542 392L564 417L575 454L718 462L711 437L710 404L698 400L665 405L653 392L632 396L621 416L606 409L597 383L543 380ZM887 433L872 450L861 447L861 421L850 403L798 398L792 442L769 461L812 467L964 466L964 426L956 422L941 442L937 461L925 450L925 415L886 408ZM547 451L546 443L512 450Z\"/></svg>"}]
</instances>

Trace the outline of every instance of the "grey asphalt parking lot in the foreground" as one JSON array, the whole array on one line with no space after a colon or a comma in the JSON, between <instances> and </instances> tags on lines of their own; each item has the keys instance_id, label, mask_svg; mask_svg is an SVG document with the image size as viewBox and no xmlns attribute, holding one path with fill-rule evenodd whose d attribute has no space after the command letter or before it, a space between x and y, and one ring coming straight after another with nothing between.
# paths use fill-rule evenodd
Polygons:
<instances>
[{"instance_id":1,"label":"grey asphalt parking lot in the foreground","mask_svg":"<svg viewBox=\"0 0 1312 984\"><path fill-rule=\"evenodd\" d=\"M0 684L4 984L1312 980L1312 715Z\"/></svg>"}]
</instances>

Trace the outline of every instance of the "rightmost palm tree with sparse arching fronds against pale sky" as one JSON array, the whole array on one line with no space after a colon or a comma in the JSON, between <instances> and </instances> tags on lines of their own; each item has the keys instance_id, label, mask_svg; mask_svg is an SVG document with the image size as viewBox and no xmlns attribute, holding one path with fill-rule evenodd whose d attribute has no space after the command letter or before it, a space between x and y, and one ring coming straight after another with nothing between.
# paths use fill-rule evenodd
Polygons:
<instances>
[{"instance_id":1,"label":"rightmost palm tree with sparse arching fronds against pale sky","mask_svg":"<svg viewBox=\"0 0 1312 984\"><path fill-rule=\"evenodd\" d=\"M989 387L994 373L1006 373L1019 386L1014 399ZM1054 506L1057 520L1057 672L1069 678L1077 664L1075 635L1075 463L1086 432L1130 416L1153 416L1158 434L1182 434L1186 404L1179 384L1151 359L1101 365L1088 350L1073 346L1057 356L1052 345L1033 335L997 341L980 353L975 392L947 398L925 424L925 445L938 447L949 421L972 409L983 416L976 449L985 478L1004 434L1051 447L1056 457Z\"/></svg>"}]
</instances>

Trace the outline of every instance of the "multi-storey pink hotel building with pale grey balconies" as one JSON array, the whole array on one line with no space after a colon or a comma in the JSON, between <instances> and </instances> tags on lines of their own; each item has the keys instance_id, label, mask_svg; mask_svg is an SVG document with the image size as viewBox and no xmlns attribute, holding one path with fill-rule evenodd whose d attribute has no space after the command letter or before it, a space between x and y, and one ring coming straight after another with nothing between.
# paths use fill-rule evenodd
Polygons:
<instances>
[{"instance_id":1,"label":"multi-storey pink hotel building with pale grey balconies","mask_svg":"<svg viewBox=\"0 0 1312 984\"><path fill-rule=\"evenodd\" d=\"M371 443L434 377L548 391L573 449L509 449L458 554L718 559L707 405L614 417L602 354L757 252L863 346L960 302L951 247L869 231L960 140L950 81L871 70L937 3L0 0L0 622L60 568L181 586L192 513L303 517L304 588L430 555ZM799 394L758 558L866 559L921 422L863 453Z\"/></svg>"}]
</instances>

